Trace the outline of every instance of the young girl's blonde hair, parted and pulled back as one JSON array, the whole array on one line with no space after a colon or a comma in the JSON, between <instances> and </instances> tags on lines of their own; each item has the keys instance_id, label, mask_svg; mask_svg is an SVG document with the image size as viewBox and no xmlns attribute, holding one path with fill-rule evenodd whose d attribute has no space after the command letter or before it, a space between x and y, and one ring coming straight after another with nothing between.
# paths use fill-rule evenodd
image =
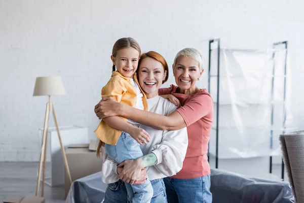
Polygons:
<instances>
[{"instance_id":1,"label":"young girl's blonde hair, parted and pulled back","mask_svg":"<svg viewBox=\"0 0 304 203\"><path fill-rule=\"evenodd\" d=\"M138 53L139 53L138 57L139 57L141 54L141 50L140 50L139 44L133 38L121 38L118 41L116 41L116 43L113 45L112 56L116 57L119 50L125 49L125 48L130 48L130 47L132 47L138 51ZM112 71L115 71L114 64L112 66Z\"/></svg>"}]
</instances>

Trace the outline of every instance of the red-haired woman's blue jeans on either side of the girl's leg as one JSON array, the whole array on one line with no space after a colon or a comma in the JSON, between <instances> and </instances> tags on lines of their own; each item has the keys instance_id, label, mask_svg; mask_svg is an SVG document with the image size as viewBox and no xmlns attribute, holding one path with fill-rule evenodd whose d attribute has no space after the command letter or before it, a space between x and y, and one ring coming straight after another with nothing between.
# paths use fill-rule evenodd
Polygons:
<instances>
[{"instance_id":1,"label":"red-haired woman's blue jeans on either side of the girl's leg","mask_svg":"<svg viewBox=\"0 0 304 203\"><path fill-rule=\"evenodd\" d=\"M167 203L166 188L163 179L150 181L153 187L153 197L151 203ZM103 203L127 203L127 189L121 180L108 184L105 190Z\"/></svg>"}]
</instances>

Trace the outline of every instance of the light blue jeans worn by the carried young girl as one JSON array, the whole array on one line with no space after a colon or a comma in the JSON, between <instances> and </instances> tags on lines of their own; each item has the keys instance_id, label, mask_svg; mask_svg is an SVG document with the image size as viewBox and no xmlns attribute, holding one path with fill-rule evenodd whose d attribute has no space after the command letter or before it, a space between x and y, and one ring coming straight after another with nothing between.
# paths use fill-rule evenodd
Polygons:
<instances>
[{"instance_id":1,"label":"light blue jeans worn by the carried young girl","mask_svg":"<svg viewBox=\"0 0 304 203\"><path fill-rule=\"evenodd\" d=\"M118 163L143 156L140 145L129 133L124 131L119 137L116 145L105 144L104 146L107 155ZM150 202L150 199L153 196L153 188L148 178L145 183L141 185L130 185L129 183L126 183L125 185L129 201L133 203Z\"/></svg>"}]
</instances>

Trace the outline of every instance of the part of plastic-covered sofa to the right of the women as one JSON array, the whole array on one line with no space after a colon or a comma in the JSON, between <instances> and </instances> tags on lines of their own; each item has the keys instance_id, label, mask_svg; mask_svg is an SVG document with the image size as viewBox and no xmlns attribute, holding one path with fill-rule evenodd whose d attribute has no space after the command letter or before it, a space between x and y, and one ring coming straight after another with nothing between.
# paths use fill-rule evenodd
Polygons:
<instances>
[{"instance_id":1,"label":"part of plastic-covered sofa to the right of the women","mask_svg":"<svg viewBox=\"0 0 304 203\"><path fill-rule=\"evenodd\" d=\"M249 178L221 170L211 170L213 203L287 203L295 202L286 182Z\"/></svg>"}]
</instances>

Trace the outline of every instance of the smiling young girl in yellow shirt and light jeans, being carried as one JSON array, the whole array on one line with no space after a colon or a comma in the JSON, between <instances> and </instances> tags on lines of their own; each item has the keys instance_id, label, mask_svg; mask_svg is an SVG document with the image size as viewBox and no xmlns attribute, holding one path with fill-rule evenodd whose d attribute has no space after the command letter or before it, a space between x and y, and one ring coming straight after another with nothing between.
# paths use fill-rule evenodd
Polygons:
<instances>
[{"instance_id":1,"label":"smiling young girl in yellow shirt and light jeans, being carried","mask_svg":"<svg viewBox=\"0 0 304 203\"><path fill-rule=\"evenodd\" d=\"M110 96L120 103L146 111L147 100L138 85L135 73L140 52L138 43L132 38L122 38L114 44L111 55L112 77L102 88L101 96ZM140 144L149 142L150 137L138 126L139 123L119 116L102 119L95 130L96 136L100 139L97 156L104 143L107 155L118 163L142 157ZM140 173L134 174L132 179L135 180L139 175ZM130 202L150 202L153 188L148 179L142 185L130 185L129 179L124 181Z\"/></svg>"}]
</instances>

